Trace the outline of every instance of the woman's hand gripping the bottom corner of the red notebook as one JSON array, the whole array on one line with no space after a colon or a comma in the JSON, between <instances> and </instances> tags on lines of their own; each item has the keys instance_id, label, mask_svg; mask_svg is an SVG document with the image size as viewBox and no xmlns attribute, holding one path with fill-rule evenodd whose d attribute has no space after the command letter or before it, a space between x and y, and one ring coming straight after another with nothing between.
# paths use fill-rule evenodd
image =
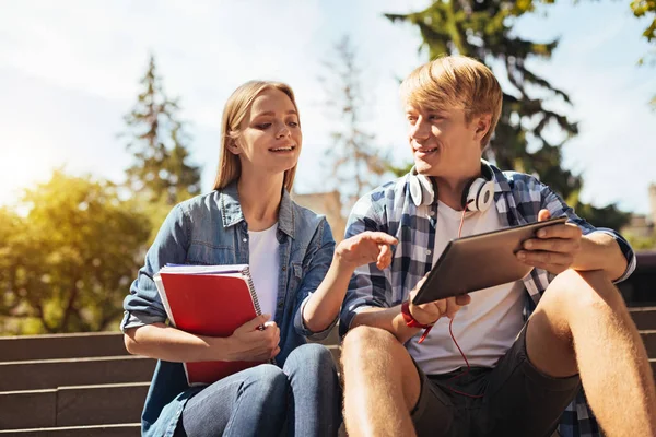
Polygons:
<instances>
[{"instance_id":1,"label":"woman's hand gripping the bottom corner of the red notebook","mask_svg":"<svg viewBox=\"0 0 656 437\"><path fill-rule=\"evenodd\" d=\"M229 340L227 361L266 362L280 352L280 328L261 315L237 328ZM259 327L263 326L263 330Z\"/></svg>"}]
</instances>

